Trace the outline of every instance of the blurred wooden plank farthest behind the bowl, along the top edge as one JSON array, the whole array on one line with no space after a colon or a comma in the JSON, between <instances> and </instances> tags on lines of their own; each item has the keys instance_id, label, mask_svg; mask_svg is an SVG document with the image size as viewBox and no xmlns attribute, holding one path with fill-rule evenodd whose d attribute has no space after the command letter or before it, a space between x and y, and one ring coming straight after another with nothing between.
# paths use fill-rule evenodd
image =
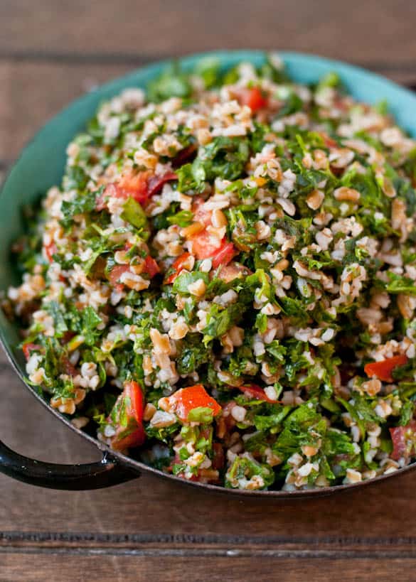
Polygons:
<instances>
[{"instance_id":1,"label":"blurred wooden plank farthest behind the bowl, along the top edge","mask_svg":"<svg viewBox=\"0 0 416 582\"><path fill-rule=\"evenodd\" d=\"M0 53L157 55L276 48L354 62L414 65L416 6L407 0L31 0L1 3ZM403 39L406 48L403 50Z\"/></svg>"}]
</instances>

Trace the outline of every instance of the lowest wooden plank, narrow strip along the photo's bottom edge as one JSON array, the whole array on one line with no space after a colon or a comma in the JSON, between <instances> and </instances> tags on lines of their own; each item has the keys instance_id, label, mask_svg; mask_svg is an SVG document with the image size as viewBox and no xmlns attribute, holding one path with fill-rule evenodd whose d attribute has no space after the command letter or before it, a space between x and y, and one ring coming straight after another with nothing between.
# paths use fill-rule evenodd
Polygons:
<instances>
[{"instance_id":1,"label":"lowest wooden plank, narrow strip along the photo's bottom edge","mask_svg":"<svg viewBox=\"0 0 416 582\"><path fill-rule=\"evenodd\" d=\"M230 558L170 556L82 556L50 554L6 554L1 556L0 574L4 582L43 582L56 580L79 582L117 580L122 582L297 582L335 579L349 581L397 582L414 579L415 561L378 559L269 559L257 560L240 556ZM29 573L29 574L28 574ZM30 578L28 578L30 576ZM369 578L371 576L371 578Z\"/></svg>"}]
</instances>

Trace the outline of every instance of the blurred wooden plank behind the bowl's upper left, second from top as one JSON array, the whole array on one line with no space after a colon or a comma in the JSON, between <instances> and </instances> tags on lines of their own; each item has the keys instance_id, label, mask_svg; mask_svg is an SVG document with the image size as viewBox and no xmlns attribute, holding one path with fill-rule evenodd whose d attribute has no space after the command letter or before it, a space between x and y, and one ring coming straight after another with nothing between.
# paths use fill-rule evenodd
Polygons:
<instances>
[{"instance_id":1,"label":"blurred wooden plank behind the bowl's upper left, second from top","mask_svg":"<svg viewBox=\"0 0 416 582\"><path fill-rule=\"evenodd\" d=\"M82 65L0 60L0 172L28 139L72 99L131 70L129 64ZM394 80L416 82L409 72L385 69ZM381 97L380 97L381 98Z\"/></svg>"}]
</instances>

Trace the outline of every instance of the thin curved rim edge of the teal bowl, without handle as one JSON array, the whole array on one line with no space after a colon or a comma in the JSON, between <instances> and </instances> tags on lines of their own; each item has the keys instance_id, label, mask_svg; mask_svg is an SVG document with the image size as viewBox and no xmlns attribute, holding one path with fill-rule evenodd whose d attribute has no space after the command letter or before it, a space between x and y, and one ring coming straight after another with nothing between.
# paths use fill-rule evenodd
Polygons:
<instances>
[{"instance_id":1,"label":"thin curved rim edge of the teal bowl, without handle","mask_svg":"<svg viewBox=\"0 0 416 582\"><path fill-rule=\"evenodd\" d=\"M13 161L13 163L11 163L11 166L6 171L6 175L4 176L4 179L2 180L2 183L0 185L0 196L4 193L4 189L6 188L6 185L8 185L9 180L13 180L14 172L18 171L19 163L24 162L23 159L24 156L26 156L26 154L30 152L32 147L36 147L36 141L38 141L38 139L42 139L43 135L46 133L48 128L52 126L54 123L57 123L61 116L70 114L73 111L75 112L76 108L82 106L82 104L84 103L86 104L91 97L91 93L94 93L97 96L101 95L102 97L100 97L100 102L102 102L105 99L110 99L112 95L117 95L117 92L122 90L121 85L127 87L126 83L128 82L132 82L132 84L137 85L137 77L140 75L146 75L146 73L149 75L149 78L155 77L158 74L158 72L166 68L170 63L172 63L172 61L184 65L185 67L191 67L199 60L202 60L204 58L219 58L222 62L222 65L225 68L229 68L230 66L242 60L249 60L251 62L255 61L261 62L262 60L264 60L265 55L267 55L267 53L270 52L274 51L250 50L250 49L209 50L200 53L191 53L188 55L183 55L178 58L157 60L152 63L149 63L148 65L143 65L140 66L139 68L134 68L134 70L132 70L131 72L127 72L127 74L125 75L121 75L119 77L114 78L113 80L105 82L99 85L95 90L93 90L93 92L84 93L80 95L80 97L78 97L77 99L73 99L72 101L70 101L68 105L63 107L63 109L60 109L60 111L53 117L50 117L50 119L48 119L48 121L45 124L43 124L41 128L38 129L38 131L36 131L36 133L31 137L31 139L29 139L26 142L26 145L23 146L16 159ZM383 77L383 75L379 75L378 73L368 71L365 68L359 67L357 65L351 65L341 60L334 60L326 57L321 57L319 55L314 55L311 53L302 53L297 51L285 51L285 50L277 50L275 52L279 55L279 57L282 58L284 64L288 65L288 68L290 68L290 66L294 66L294 68L296 68L297 66L296 61L303 60L305 63L311 65L311 68L314 67L316 68L316 65L319 65L319 67L321 67L321 65L324 65L324 68L331 68L331 70L334 70L335 72L340 72L341 77L343 74L352 75L353 77L363 76L365 77L366 80L376 82L385 87L388 87L388 89L390 90L394 90L394 92L398 96L400 95L402 99L405 99L406 101L408 100L410 102L410 105L413 104L416 109L415 93L413 93L406 87L398 85L398 83L388 79L387 77ZM74 131L74 135L76 133L78 133L78 131ZM416 134L416 124L415 124L415 134ZM141 460L136 460L134 458L126 456L122 453L119 453L119 451L114 451L112 448L110 448L110 446L107 446L105 443L102 443L97 438L91 436L89 433L82 431L82 429L78 429L70 422L70 419L68 419L66 416L63 416L63 414L58 412L56 409L53 409L52 406L48 404L46 399L41 394L39 394L39 392L37 392L34 387L28 384L28 382L26 381L26 377L24 376L21 367L18 363L18 358L16 357L16 354L14 352L14 347L9 344L8 340L6 340L6 333L3 325L0 325L0 344L4 349L4 352L6 353L6 357L9 360L11 367L16 372L18 378L21 380L26 389L28 389L29 392L31 392L33 397L35 397L38 400L38 402L41 402L41 404L46 408L46 410L50 412L50 414L53 414L53 416L62 421L63 424L65 424L68 428L77 433L80 437L85 438L85 440L89 441L99 451L102 451L102 453L107 453L107 455L111 456L115 460L119 460L121 465L133 468L138 472L144 471L146 473L150 473L157 477L164 478L165 480L169 481L173 480L176 483L180 483L181 485L188 485L197 490L203 491L208 490L210 492L215 492L220 495L230 494L233 495L233 497L240 498L243 497L245 499L247 498L270 499L270 497L272 497L276 500L288 500L288 499L300 500L311 497L326 497L327 495L331 495L336 492L344 492L346 490L349 491L356 489L357 487L375 485L377 483L380 483L380 481L398 475L403 475L404 473L407 473L416 468L415 461L414 463L410 463L410 465L395 470L393 473L388 473L387 475L378 475L373 479L368 479L358 483L346 483L341 485L331 485L329 487L316 487L314 489L303 489L303 490L240 490L223 487L221 485L213 485L211 483L198 483L196 481L186 480L176 475L164 473L164 471L162 470L151 467L150 465L146 465L146 463L142 462Z\"/></svg>"}]
</instances>

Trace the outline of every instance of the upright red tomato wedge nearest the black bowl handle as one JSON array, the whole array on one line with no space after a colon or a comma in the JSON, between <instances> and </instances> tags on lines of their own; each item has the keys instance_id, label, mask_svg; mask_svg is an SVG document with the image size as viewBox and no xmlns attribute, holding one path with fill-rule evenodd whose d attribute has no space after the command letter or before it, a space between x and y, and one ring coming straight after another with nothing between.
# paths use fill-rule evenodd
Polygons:
<instances>
[{"instance_id":1,"label":"upright red tomato wedge nearest the black bowl handle","mask_svg":"<svg viewBox=\"0 0 416 582\"><path fill-rule=\"evenodd\" d=\"M113 411L116 411L116 433L111 438L111 446L116 451L140 446L146 434L143 428L144 398L142 388L132 380L124 384L122 394L117 398ZM126 422L127 419L127 422ZM113 422L112 414L108 419Z\"/></svg>"}]
</instances>

